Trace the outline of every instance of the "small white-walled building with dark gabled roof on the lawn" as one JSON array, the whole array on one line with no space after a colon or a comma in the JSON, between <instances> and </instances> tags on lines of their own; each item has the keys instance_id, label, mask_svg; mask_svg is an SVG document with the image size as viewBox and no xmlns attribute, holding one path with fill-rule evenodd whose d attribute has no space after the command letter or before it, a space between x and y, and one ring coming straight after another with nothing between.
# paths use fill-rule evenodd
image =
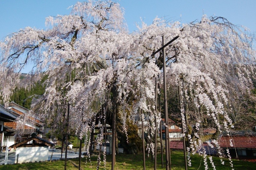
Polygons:
<instances>
[{"instance_id":1,"label":"small white-walled building with dark gabled roof on the lawn","mask_svg":"<svg viewBox=\"0 0 256 170\"><path fill-rule=\"evenodd\" d=\"M32 133L31 137L10 147L16 148L15 163L23 163L48 160L49 146L53 147L54 144Z\"/></svg>"}]
</instances>

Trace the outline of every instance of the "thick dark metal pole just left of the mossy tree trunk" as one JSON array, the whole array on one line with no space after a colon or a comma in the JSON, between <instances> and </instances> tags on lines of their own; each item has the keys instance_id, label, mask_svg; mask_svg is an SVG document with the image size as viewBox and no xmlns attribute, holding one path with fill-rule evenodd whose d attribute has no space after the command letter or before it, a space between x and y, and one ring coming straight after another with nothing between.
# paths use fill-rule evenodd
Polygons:
<instances>
[{"instance_id":1,"label":"thick dark metal pole just left of the mossy tree trunk","mask_svg":"<svg viewBox=\"0 0 256 170\"><path fill-rule=\"evenodd\" d=\"M111 170L114 170L115 162L116 162L116 86L113 85L112 164L111 164Z\"/></svg>"}]
</instances>

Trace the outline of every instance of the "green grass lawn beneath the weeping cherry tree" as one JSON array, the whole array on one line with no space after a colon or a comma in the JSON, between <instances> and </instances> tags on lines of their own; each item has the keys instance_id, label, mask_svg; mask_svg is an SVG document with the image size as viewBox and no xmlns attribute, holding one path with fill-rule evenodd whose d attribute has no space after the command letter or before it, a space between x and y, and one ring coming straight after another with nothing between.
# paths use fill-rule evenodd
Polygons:
<instances>
[{"instance_id":1,"label":"green grass lawn beneath the weeping cherry tree","mask_svg":"<svg viewBox=\"0 0 256 170\"><path fill-rule=\"evenodd\" d=\"M165 156L164 156L165 160ZM217 170L226 170L231 169L230 163L228 159L224 159L225 165L220 164L219 158L213 158L214 165L216 166ZM252 162L245 162L233 159L234 169L243 169L243 170L253 170L256 167L255 163ZM73 163L72 163L73 162ZM209 162L209 159L208 159ZM188 169L191 170L204 170L204 161L201 156L199 155L192 155L191 156L191 163L192 166L188 167ZM67 169L69 170L77 170L78 168L74 166L74 164L78 165L78 159L70 159L67 163ZM171 166L173 170L178 169L185 169L184 168L184 157L183 152L180 151L172 151L171 153ZM208 163L208 166L210 169L212 169L212 166L210 163ZM92 157L91 162L87 158L82 158L82 164L81 168L84 170L89 169L96 169L97 167L97 157ZM1 165L0 170L6 170L6 169L17 169L17 170L30 170L30 169L43 169L43 170L52 170L52 169L64 169L64 161L56 161L56 162L43 162L43 163L26 163L26 164L17 164L17 165ZM103 161L101 162L100 169L104 169ZM107 155L107 165L106 169L111 169L111 155ZM116 164L115 164L115 170L143 170L143 159L142 154L140 155L126 155L126 154L119 154L116 155ZM151 157L146 157L146 169L154 169L154 161L151 162ZM164 168L161 167L161 155L157 155L157 169L165 169L165 162L164 162Z\"/></svg>"}]
</instances>

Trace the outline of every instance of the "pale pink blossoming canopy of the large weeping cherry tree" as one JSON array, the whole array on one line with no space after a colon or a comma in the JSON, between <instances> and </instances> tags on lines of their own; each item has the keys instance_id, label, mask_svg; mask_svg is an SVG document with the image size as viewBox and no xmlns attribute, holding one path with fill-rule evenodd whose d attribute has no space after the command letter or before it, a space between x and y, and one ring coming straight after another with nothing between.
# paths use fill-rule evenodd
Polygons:
<instances>
[{"instance_id":1,"label":"pale pink blossoming canopy of the large weeping cherry tree","mask_svg":"<svg viewBox=\"0 0 256 170\"><path fill-rule=\"evenodd\" d=\"M190 150L200 149L206 127L229 131L241 114L237 103L253 89L254 37L226 18L205 15L189 24L155 18L151 25L142 22L138 31L129 33L123 13L112 1L77 2L70 15L46 18L47 30L26 27L7 36L0 42L0 92L5 103L20 82L20 70L32 64L31 74L48 75L44 95L32 106L45 119L56 113L61 117L67 100L70 120L76 120L73 127L82 138L95 126L93 117L100 110L103 119L107 109L111 112L114 85L122 130L127 134L127 122L143 109L154 133L159 127L154 116L157 122L161 119L155 111L155 93L160 92L155 92L155 78L160 75L157 82L162 84L163 55L151 54L162 46L163 35L166 40L179 35L165 48L166 78L168 86L176 89L172 94L180 96L176 106L188 131ZM206 159L205 151L201 154Z\"/></svg>"}]
</instances>

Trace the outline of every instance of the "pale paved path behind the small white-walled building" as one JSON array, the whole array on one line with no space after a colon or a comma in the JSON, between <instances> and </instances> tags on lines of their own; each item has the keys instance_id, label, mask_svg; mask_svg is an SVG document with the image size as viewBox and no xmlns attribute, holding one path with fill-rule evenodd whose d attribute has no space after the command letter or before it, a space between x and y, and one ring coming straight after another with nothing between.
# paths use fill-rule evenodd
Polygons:
<instances>
[{"instance_id":1,"label":"pale paved path behind the small white-walled building","mask_svg":"<svg viewBox=\"0 0 256 170\"><path fill-rule=\"evenodd\" d=\"M52 154L53 153L53 154ZM83 152L82 152L83 153ZM48 153L48 160L51 159L52 156L52 160L53 159L60 159L61 156L61 150L60 149L49 149L49 153ZM4 164L4 159L5 159L5 152L0 153L0 165ZM67 153L67 158L77 158L79 157L78 152L69 152ZM84 155L81 155L82 158L84 158ZM65 158L65 152L62 153L62 158ZM7 159L7 164L14 164L15 163L15 152L9 152L8 155L8 159Z\"/></svg>"}]
</instances>

